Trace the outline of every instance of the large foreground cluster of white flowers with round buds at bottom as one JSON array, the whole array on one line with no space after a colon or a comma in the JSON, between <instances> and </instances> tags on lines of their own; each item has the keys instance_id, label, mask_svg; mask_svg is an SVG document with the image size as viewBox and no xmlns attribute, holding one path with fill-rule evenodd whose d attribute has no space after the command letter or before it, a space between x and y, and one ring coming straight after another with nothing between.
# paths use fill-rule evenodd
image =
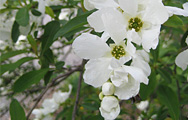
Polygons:
<instances>
[{"instance_id":1,"label":"large foreground cluster of white flowers with round buds at bottom","mask_svg":"<svg viewBox=\"0 0 188 120\"><path fill-rule=\"evenodd\" d=\"M118 100L136 96L140 83L149 82L148 52L158 45L161 24L172 14L187 16L188 4L184 10L164 6L162 0L84 0L84 5L87 10L97 9L87 20L102 35L83 33L72 47L76 55L89 59L85 83L102 86L101 115L115 119L120 113Z\"/></svg>"}]
</instances>

